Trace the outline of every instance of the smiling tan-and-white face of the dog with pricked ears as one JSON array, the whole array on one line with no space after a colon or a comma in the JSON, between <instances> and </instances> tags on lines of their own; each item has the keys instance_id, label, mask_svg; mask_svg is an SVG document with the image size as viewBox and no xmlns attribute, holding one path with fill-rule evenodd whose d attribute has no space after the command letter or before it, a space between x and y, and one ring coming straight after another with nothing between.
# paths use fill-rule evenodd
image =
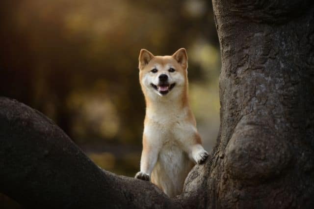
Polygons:
<instances>
[{"instance_id":1,"label":"smiling tan-and-white face of the dog with pricked ears","mask_svg":"<svg viewBox=\"0 0 314 209\"><path fill-rule=\"evenodd\" d=\"M176 96L187 85L187 55L181 48L172 56L154 56L142 49L139 55L139 78L145 96Z\"/></svg>"}]
</instances>

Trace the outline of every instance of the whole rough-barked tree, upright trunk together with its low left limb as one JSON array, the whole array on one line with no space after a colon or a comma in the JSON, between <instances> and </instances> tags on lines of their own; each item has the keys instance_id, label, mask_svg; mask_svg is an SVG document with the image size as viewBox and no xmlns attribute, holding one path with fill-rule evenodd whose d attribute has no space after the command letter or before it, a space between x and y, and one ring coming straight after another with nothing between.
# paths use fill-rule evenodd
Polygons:
<instances>
[{"instance_id":1,"label":"whole rough-barked tree, upright trunk together with its low left limb","mask_svg":"<svg viewBox=\"0 0 314 209\"><path fill-rule=\"evenodd\" d=\"M0 99L0 192L28 208L314 207L314 3L213 0L220 130L183 193L101 170L50 119Z\"/></svg>"}]
</instances>

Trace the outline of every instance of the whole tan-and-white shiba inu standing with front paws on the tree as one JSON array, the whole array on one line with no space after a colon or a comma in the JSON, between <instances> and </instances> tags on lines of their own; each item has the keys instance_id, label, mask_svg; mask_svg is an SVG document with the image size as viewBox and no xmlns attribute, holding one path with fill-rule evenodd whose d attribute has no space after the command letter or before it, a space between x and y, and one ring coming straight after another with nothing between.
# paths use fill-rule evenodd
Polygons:
<instances>
[{"instance_id":1,"label":"whole tan-and-white shiba inu standing with front paws on the tree","mask_svg":"<svg viewBox=\"0 0 314 209\"><path fill-rule=\"evenodd\" d=\"M138 67L146 116L140 172L135 178L151 180L174 197L182 192L195 163L208 157L188 103L186 50L154 56L142 49Z\"/></svg>"}]
</instances>

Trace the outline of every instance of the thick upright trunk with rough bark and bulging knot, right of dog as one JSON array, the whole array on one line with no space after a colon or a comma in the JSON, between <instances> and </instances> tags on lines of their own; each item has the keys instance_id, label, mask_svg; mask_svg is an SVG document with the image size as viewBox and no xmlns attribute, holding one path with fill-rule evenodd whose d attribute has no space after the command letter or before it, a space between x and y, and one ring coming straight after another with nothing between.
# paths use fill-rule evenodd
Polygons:
<instances>
[{"instance_id":1,"label":"thick upright trunk with rough bark and bulging knot, right of dog","mask_svg":"<svg viewBox=\"0 0 314 209\"><path fill-rule=\"evenodd\" d=\"M222 69L210 208L314 208L314 4L213 8Z\"/></svg>"}]
</instances>

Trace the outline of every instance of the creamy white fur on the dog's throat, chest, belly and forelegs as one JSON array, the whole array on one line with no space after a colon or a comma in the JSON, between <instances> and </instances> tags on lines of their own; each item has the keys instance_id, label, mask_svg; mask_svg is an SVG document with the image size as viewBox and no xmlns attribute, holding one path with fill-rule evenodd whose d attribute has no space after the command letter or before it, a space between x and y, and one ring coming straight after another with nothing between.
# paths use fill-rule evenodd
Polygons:
<instances>
[{"instance_id":1,"label":"creamy white fur on the dog's throat, chest, belly and forelegs","mask_svg":"<svg viewBox=\"0 0 314 209\"><path fill-rule=\"evenodd\" d=\"M166 96L172 98L170 93L176 94L170 91ZM154 149L142 154L141 172L154 176L154 183L173 197L182 192L193 163L200 162L207 151L200 144L191 144L197 129L186 120L188 108L182 110L178 108L179 101L162 97L146 111L149 122L145 124L144 135Z\"/></svg>"}]
</instances>

